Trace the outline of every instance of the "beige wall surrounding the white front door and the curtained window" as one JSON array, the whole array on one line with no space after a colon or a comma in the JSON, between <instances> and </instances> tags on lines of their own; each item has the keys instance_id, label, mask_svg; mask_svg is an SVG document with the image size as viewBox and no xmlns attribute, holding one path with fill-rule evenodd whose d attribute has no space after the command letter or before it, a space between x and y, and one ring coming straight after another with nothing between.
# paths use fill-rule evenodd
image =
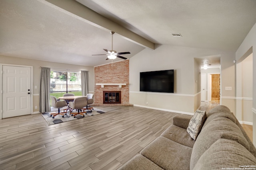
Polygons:
<instances>
[{"instance_id":1,"label":"beige wall surrounding the white front door and the curtained window","mask_svg":"<svg viewBox=\"0 0 256 170\"><path fill-rule=\"evenodd\" d=\"M33 112L39 112L39 90L40 90L40 74L41 67L50 67L50 68L61 68L69 70L88 70L89 71L89 91L94 92L94 67L92 66L82 66L74 64L64 64L64 63L53 63L48 61L39 61L32 59L22 59L17 57L6 57L0 56L0 64L14 64L14 65L26 65L33 66ZM37 86L37 89L34 87ZM2 87L1 87L2 89ZM35 109L35 106L38 106Z\"/></svg>"}]
</instances>

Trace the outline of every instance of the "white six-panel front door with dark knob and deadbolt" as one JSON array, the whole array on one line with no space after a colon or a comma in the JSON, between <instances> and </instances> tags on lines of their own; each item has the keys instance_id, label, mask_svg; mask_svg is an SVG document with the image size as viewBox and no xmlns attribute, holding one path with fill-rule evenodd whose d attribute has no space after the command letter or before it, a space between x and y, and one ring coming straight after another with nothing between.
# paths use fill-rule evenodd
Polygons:
<instances>
[{"instance_id":1,"label":"white six-panel front door with dark knob and deadbolt","mask_svg":"<svg viewBox=\"0 0 256 170\"><path fill-rule=\"evenodd\" d=\"M2 118L31 114L31 68L2 66Z\"/></svg>"}]
</instances>

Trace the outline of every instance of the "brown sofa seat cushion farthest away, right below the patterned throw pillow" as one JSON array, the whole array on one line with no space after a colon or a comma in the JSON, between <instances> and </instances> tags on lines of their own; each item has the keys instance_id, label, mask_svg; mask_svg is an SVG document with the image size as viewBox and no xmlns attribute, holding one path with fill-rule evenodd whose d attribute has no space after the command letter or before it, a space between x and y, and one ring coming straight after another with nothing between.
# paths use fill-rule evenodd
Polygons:
<instances>
[{"instance_id":1,"label":"brown sofa seat cushion farthest away, right below the patterned throw pillow","mask_svg":"<svg viewBox=\"0 0 256 170\"><path fill-rule=\"evenodd\" d=\"M168 127L168 129L166 129L161 136L190 148L192 148L195 143L195 141L187 133L186 129L176 125L170 125L170 127Z\"/></svg>"}]
</instances>

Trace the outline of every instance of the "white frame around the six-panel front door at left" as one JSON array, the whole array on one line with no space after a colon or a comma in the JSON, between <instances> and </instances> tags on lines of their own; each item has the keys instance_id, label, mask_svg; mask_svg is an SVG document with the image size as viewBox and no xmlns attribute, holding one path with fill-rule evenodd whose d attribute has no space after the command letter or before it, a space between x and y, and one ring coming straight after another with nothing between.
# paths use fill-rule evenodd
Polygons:
<instances>
[{"instance_id":1,"label":"white frame around the six-panel front door at left","mask_svg":"<svg viewBox=\"0 0 256 170\"><path fill-rule=\"evenodd\" d=\"M2 74L3 74L3 66L17 66L17 67L26 67L26 68L30 68L30 86L31 86L31 98L30 98L30 104L31 104L31 113L33 114L33 66L26 66L26 65L16 65L16 64L2 64L0 63L0 68L1 68L1 74L0 74L0 90L1 90L1 94L0 94L0 119L2 119L2 97L3 97L3 89L2 89Z\"/></svg>"}]
</instances>

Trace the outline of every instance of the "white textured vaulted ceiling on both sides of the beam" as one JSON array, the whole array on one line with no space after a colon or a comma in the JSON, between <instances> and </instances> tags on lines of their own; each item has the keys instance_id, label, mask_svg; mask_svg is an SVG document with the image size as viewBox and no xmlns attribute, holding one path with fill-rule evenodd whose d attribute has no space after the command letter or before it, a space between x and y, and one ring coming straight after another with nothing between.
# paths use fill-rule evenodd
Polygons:
<instances>
[{"instance_id":1,"label":"white textured vaulted ceiling on both sides of the beam","mask_svg":"<svg viewBox=\"0 0 256 170\"><path fill-rule=\"evenodd\" d=\"M103 25L51 1L0 0L0 55L90 66L110 63L104 55L92 56L111 49L104 20L152 43L235 52L256 23L256 0L77 0L104 16ZM123 57L146 47L133 36L115 32L113 49L131 53Z\"/></svg>"}]
</instances>

